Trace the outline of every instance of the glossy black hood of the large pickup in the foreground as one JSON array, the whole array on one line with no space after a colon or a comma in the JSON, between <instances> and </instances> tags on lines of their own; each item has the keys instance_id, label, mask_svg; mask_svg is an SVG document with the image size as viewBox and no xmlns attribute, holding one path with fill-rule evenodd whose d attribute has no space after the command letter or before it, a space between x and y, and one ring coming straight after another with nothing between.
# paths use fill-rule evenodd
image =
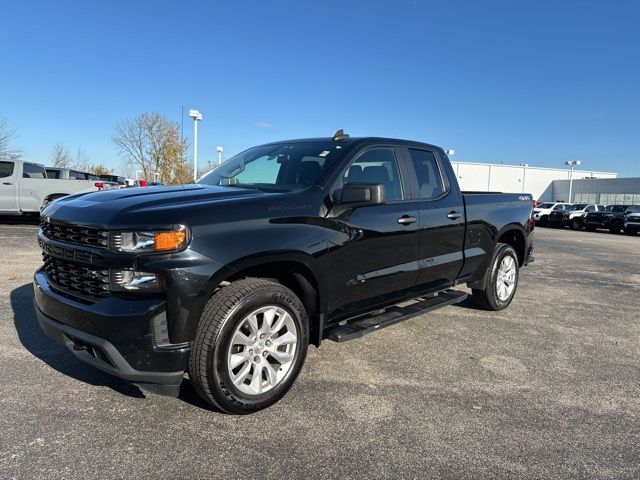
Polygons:
<instances>
[{"instance_id":1,"label":"glossy black hood of the large pickup in the foreground","mask_svg":"<svg viewBox=\"0 0 640 480\"><path fill-rule=\"evenodd\" d=\"M208 185L137 187L63 197L50 203L42 216L54 221L99 226L135 228L162 218L164 224L180 223L195 206L236 203L273 195L260 190ZM154 222L157 224L157 222Z\"/></svg>"}]
</instances>

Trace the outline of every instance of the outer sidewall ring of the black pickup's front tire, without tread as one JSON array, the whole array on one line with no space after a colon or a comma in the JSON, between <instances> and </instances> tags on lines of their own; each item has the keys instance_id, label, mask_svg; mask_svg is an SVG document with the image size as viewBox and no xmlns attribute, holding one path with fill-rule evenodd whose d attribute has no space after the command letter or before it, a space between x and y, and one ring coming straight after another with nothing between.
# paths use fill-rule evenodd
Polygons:
<instances>
[{"instance_id":1,"label":"outer sidewall ring of the black pickup's front tire, without tread","mask_svg":"<svg viewBox=\"0 0 640 480\"><path fill-rule=\"evenodd\" d=\"M278 306L291 315L298 329L297 348L293 365L291 365L286 378L266 393L247 395L233 385L227 368L227 355L233 333L238 327L238 324L251 312L267 305ZM289 390L302 368L307 354L308 343L309 327L306 311L293 292L279 286L254 292L247 298L239 301L225 315L224 323L220 329L215 345L207 351L207 383L212 390L215 389L218 391L220 394L219 397L224 398L226 402L228 402L226 405L227 408L246 410L246 413L260 410L277 402Z\"/></svg>"}]
</instances>

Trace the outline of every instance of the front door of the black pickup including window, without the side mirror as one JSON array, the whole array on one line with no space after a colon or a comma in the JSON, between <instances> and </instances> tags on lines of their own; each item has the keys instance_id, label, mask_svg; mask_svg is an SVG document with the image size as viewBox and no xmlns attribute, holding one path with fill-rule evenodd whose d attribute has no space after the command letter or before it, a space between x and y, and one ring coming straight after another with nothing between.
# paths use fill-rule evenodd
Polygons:
<instances>
[{"instance_id":1,"label":"front door of the black pickup including window, without the side mirror","mask_svg":"<svg viewBox=\"0 0 640 480\"><path fill-rule=\"evenodd\" d=\"M334 186L382 184L385 203L356 208L334 205L335 243L326 271L330 317L371 310L416 284L418 204L409 194L403 157L392 146L372 147L356 155Z\"/></svg>"}]
</instances>

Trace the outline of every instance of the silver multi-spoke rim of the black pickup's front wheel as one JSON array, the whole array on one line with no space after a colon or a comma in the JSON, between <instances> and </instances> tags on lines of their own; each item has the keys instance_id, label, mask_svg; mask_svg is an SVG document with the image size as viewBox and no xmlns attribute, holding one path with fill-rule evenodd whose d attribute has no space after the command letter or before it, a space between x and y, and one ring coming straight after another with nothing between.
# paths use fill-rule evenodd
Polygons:
<instances>
[{"instance_id":1,"label":"silver multi-spoke rim of the black pickup's front wheel","mask_svg":"<svg viewBox=\"0 0 640 480\"><path fill-rule=\"evenodd\" d=\"M275 305L244 317L231 337L227 369L231 381L247 395L260 395L282 383L293 366L298 329Z\"/></svg>"}]
</instances>

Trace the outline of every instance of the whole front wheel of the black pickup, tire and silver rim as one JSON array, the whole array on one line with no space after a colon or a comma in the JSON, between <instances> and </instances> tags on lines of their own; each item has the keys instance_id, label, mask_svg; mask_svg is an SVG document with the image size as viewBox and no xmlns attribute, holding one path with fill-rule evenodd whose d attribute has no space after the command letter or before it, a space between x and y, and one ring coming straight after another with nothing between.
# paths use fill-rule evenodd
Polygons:
<instances>
[{"instance_id":1,"label":"whole front wheel of the black pickup, tire and silver rim","mask_svg":"<svg viewBox=\"0 0 640 480\"><path fill-rule=\"evenodd\" d=\"M189 377L213 407L253 413L287 393L302 369L308 343L307 314L291 290L256 278L233 282L204 309Z\"/></svg>"}]
</instances>

